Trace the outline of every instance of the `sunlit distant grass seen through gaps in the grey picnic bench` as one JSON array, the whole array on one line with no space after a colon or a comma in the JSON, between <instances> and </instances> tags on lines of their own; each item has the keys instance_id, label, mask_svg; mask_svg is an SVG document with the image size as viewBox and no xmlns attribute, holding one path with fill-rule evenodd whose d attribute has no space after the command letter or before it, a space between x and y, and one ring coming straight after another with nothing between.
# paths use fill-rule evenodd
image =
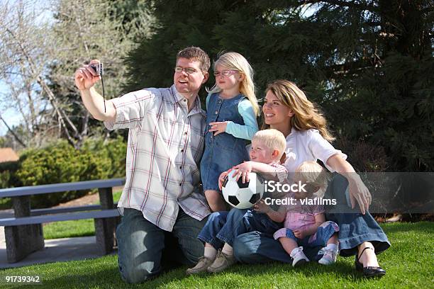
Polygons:
<instances>
[{"instance_id":1,"label":"sunlit distant grass seen through gaps in the grey picnic bench","mask_svg":"<svg viewBox=\"0 0 434 289\"><path fill-rule=\"evenodd\" d=\"M113 193L113 202L118 202L122 191ZM99 204L99 201L96 203ZM43 227L45 239L93 236L95 234L94 220L75 220L52 222Z\"/></svg>"}]
</instances>

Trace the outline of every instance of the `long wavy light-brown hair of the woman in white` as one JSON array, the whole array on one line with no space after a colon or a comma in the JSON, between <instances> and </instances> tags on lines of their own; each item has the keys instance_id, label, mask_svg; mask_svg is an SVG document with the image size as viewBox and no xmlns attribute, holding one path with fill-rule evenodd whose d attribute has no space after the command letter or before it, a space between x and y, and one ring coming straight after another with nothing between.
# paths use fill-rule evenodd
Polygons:
<instances>
[{"instance_id":1,"label":"long wavy light-brown hair of the woman in white","mask_svg":"<svg viewBox=\"0 0 434 289\"><path fill-rule=\"evenodd\" d=\"M282 101L285 106L294 111L291 117L291 127L296 130L309 130L311 128L320 132L325 140L332 142L335 137L327 128L327 121L318 108L306 98L301 89L291 81L279 79L268 85L265 93L272 93Z\"/></svg>"}]
</instances>

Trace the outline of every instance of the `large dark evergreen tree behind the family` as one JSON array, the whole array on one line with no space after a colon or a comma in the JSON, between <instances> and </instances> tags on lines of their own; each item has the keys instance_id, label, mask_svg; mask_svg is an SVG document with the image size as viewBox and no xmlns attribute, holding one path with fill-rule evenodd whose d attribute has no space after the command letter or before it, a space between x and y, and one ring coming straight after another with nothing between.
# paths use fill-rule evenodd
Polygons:
<instances>
[{"instance_id":1,"label":"large dark evergreen tree behind the family","mask_svg":"<svg viewBox=\"0 0 434 289\"><path fill-rule=\"evenodd\" d=\"M240 52L255 69L258 98L269 81L294 81L338 139L384 148L389 171L433 171L433 1L155 1L154 8L154 35L128 57L126 90L171 85L183 47L213 57Z\"/></svg>"}]
</instances>

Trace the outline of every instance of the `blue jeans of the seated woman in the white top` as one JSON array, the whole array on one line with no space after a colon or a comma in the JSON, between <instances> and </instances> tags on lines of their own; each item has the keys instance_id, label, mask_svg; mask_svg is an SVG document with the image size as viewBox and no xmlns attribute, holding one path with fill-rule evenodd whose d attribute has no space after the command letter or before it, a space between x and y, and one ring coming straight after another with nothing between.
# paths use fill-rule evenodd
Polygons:
<instances>
[{"instance_id":1,"label":"blue jeans of the seated woman in the white top","mask_svg":"<svg viewBox=\"0 0 434 289\"><path fill-rule=\"evenodd\" d=\"M347 203L345 191L348 182L345 177L337 175L328 185L324 198L336 198L338 203ZM325 210L327 212L327 208ZM333 221L339 226L339 249L341 256L357 254L357 246L363 242L371 242L375 252L389 248L390 243L383 230L369 212L362 215L360 212L325 214L326 220ZM318 250L306 248L304 253L311 260L318 260ZM234 239L233 251L235 259L244 263L266 263L269 261L282 261L291 263L292 259L286 254L282 245L260 231L240 234Z\"/></svg>"}]
</instances>

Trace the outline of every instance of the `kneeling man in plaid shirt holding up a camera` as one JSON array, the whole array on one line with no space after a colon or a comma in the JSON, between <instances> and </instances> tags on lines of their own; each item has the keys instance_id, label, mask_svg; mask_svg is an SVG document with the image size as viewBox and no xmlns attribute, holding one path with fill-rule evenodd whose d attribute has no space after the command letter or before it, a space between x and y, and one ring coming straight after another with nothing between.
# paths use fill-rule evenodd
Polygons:
<instances>
[{"instance_id":1,"label":"kneeling man in plaid shirt holding up a camera","mask_svg":"<svg viewBox=\"0 0 434 289\"><path fill-rule=\"evenodd\" d=\"M106 110L93 87L100 79L94 69L85 65L75 73L91 115L109 130L129 128L126 184L118 202L123 217L116 229L119 271L128 283L160 273L167 232L179 243L172 254L177 261L194 264L204 251L196 237L210 213L197 190L206 115L197 94L209 67L206 52L187 47L177 54L174 85L113 98Z\"/></svg>"}]
</instances>

